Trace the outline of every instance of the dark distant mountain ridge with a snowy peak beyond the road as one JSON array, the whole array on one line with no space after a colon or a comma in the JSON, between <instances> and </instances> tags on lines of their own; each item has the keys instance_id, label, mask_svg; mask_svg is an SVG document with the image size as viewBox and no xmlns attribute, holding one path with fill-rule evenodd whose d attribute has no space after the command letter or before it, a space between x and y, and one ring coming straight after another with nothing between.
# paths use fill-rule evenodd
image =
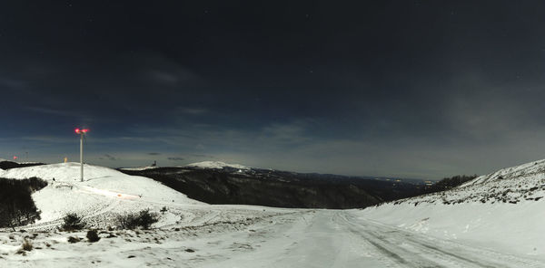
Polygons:
<instances>
[{"instance_id":1,"label":"dark distant mountain ridge with a snowy peak beyond the road","mask_svg":"<svg viewBox=\"0 0 545 268\"><path fill-rule=\"evenodd\" d=\"M151 177L190 198L209 204L302 208L354 208L422 193L422 183L376 178L297 173L205 161L184 167L120 168Z\"/></svg>"}]
</instances>

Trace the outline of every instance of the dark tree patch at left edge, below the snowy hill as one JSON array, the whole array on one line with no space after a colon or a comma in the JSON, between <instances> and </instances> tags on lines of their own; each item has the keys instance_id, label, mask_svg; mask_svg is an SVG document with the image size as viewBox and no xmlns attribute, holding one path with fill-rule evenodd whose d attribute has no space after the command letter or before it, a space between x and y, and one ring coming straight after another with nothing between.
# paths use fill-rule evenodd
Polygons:
<instances>
[{"instance_id":1,"label":"dark tree patch at left edge, below the snowy hill","mask_svg":"<svg viewBox=\"0 0 545 268\"><path fill-rule=\"evenodd\" d=\"M47 186L38 177L10 179L0 177L0 227L33 224L40 219L32 193Z\"/></svg>"}]
</instances>

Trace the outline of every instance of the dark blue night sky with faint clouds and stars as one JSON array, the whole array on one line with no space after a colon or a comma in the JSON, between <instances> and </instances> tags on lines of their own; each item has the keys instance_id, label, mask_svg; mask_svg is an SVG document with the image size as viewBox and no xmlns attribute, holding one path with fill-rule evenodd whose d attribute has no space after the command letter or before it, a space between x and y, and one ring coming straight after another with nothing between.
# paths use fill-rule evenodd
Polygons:
<instances>
[{"instance_id":1,"label":"dark blue night sky with faint clouds and stars","mask_svg":"<svg viewBox=\"0 0 545 268\"><path fill-rule=\"evenodd\" d=\"M34 2L34 3L33 3ZM3 1L0 158L438 179L545 158L543 1Z\"/></svg>"}]
</instances>

